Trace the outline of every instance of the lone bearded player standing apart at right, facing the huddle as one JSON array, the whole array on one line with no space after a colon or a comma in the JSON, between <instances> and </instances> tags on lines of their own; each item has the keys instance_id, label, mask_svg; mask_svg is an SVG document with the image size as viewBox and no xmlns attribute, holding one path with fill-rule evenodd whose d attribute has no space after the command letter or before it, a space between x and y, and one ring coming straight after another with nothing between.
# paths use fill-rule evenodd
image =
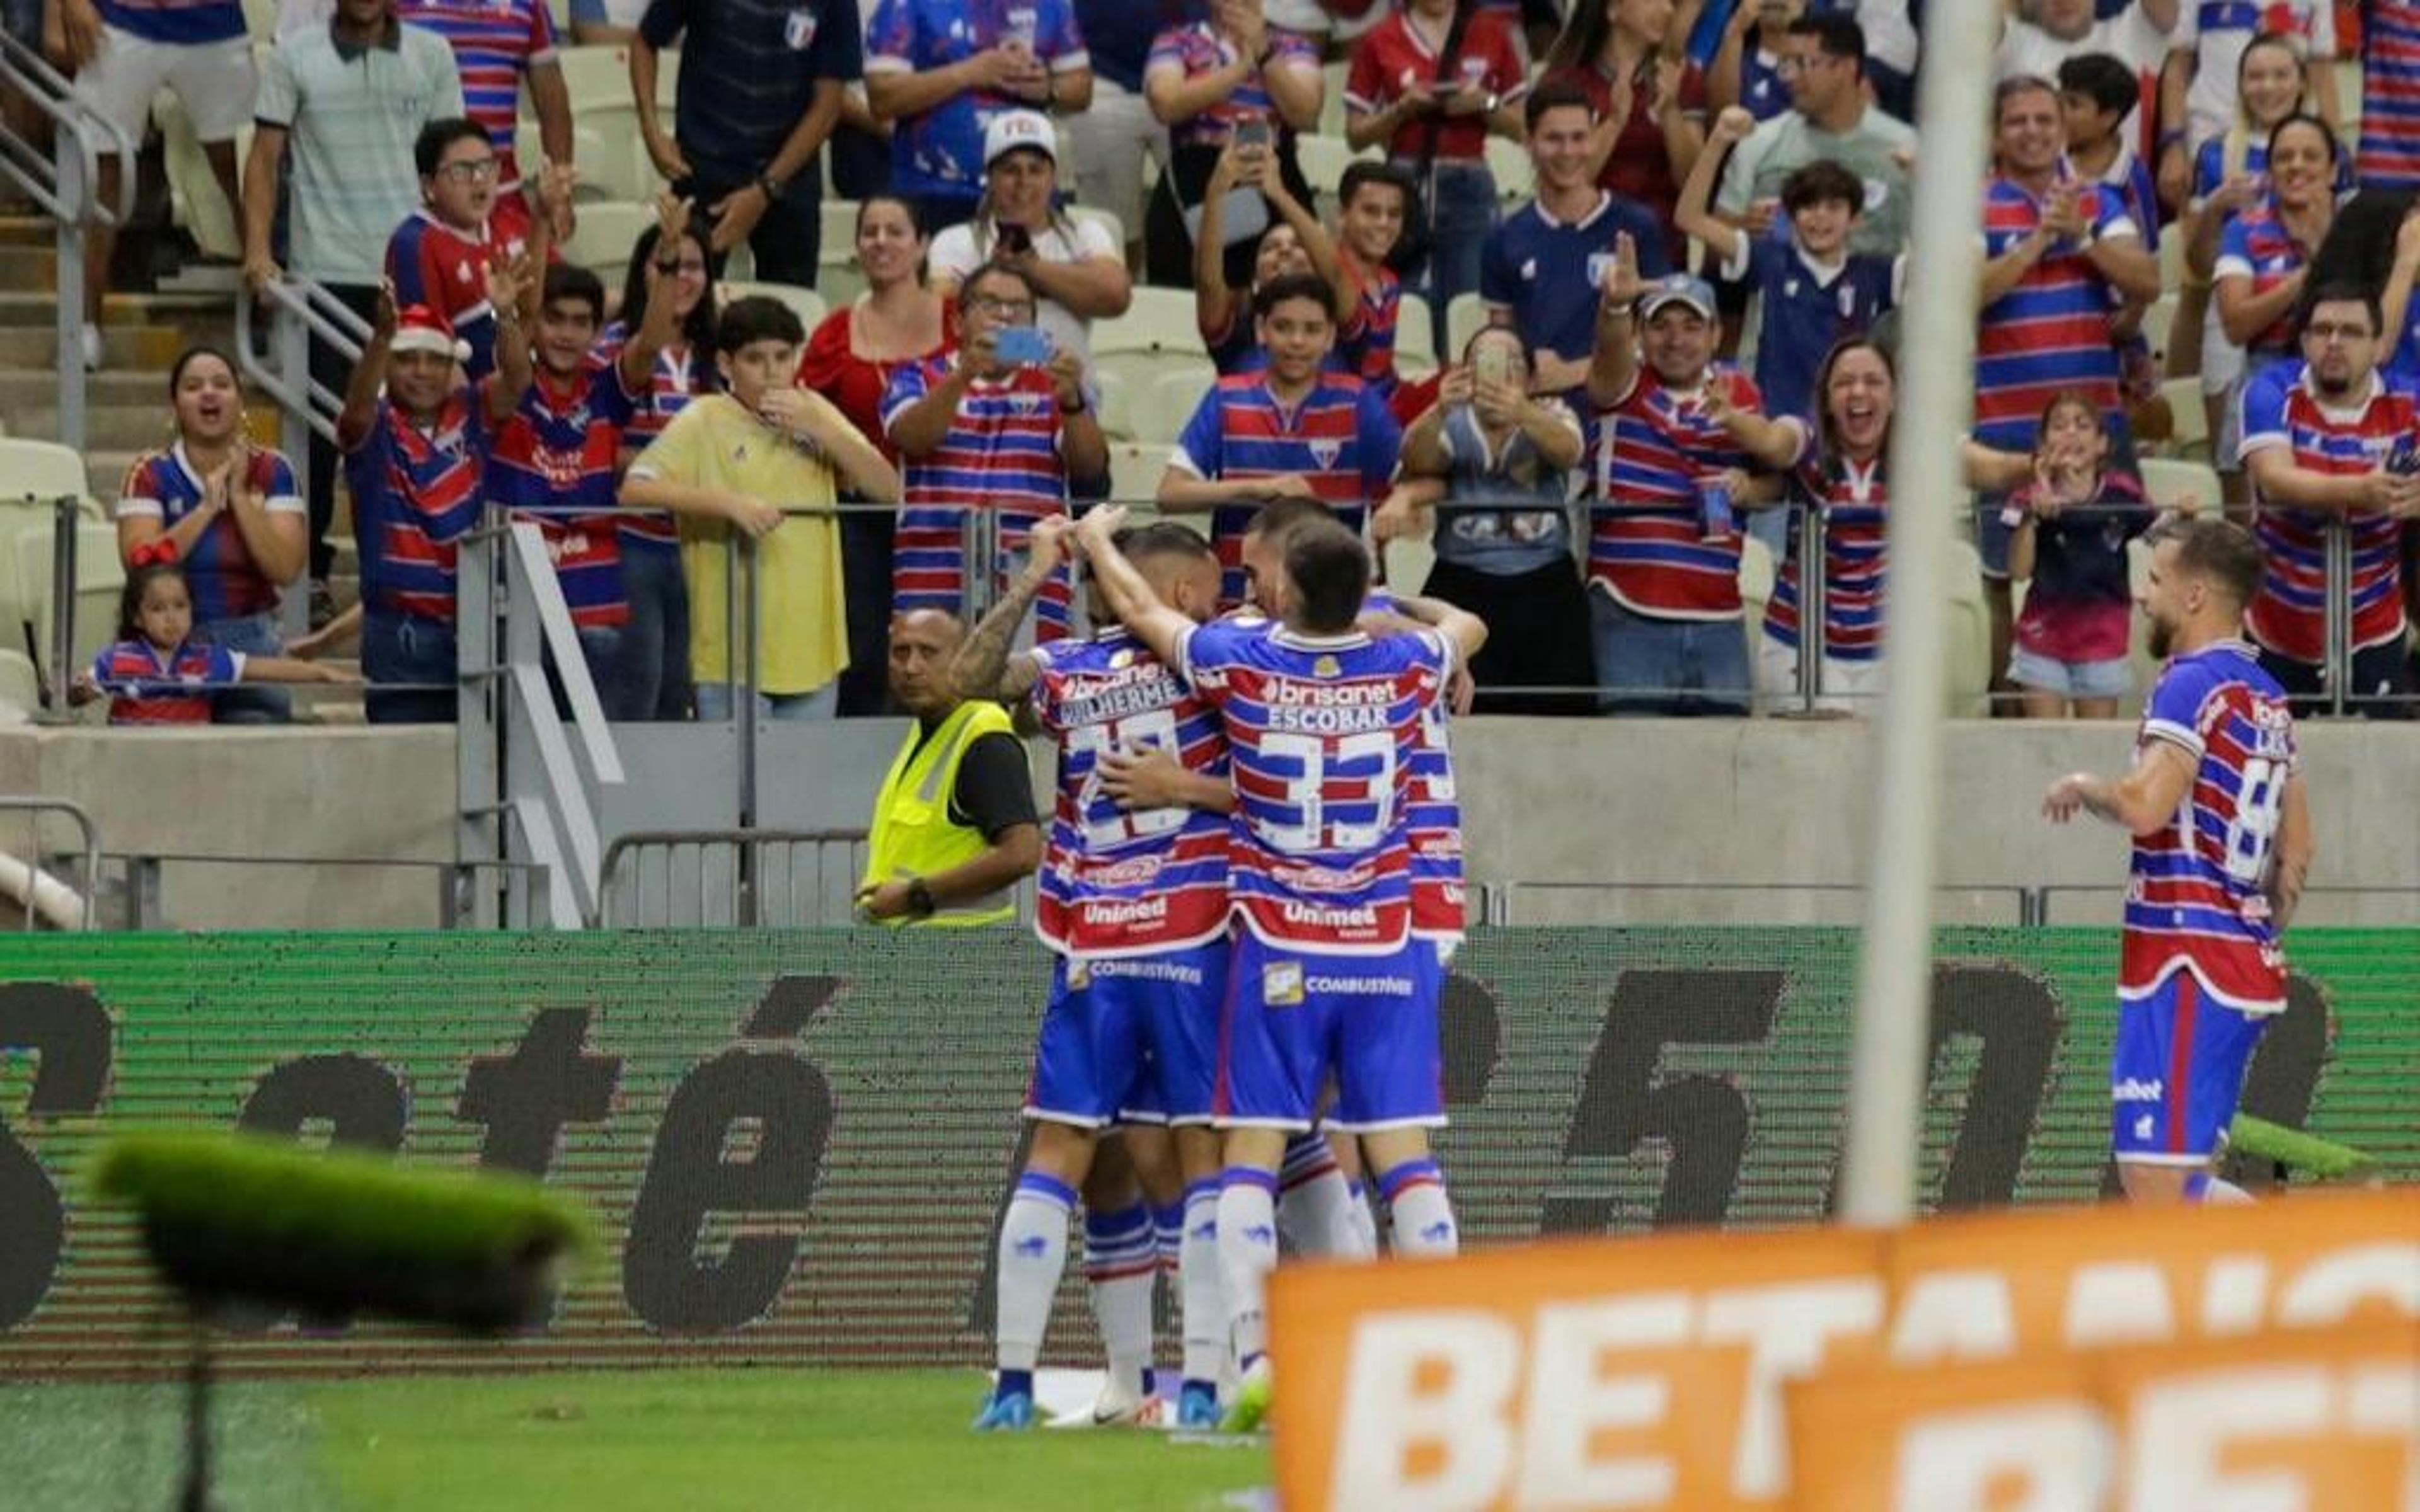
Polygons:
<instances>
[{"instance_id":1,"label":"lone bearded player standing apart at right, facing the huddle","mask_svg":"<svg viewBox=\"0 0 2420 1512\"><path fill-rule=\"evenodd\" d=\"M2284 1011L2277 936L2311 871L2311 810L2284 689L2243 641L2260 544L2217 518L2151 532L2142 590L2151 651L2168 665L2144 704L2134 769L2074 772L2042 813L2134 835L2110 1147L2127 1198L2200 1202L2236 1115L2243 1069Z\"/></svg>"}]
</instances>

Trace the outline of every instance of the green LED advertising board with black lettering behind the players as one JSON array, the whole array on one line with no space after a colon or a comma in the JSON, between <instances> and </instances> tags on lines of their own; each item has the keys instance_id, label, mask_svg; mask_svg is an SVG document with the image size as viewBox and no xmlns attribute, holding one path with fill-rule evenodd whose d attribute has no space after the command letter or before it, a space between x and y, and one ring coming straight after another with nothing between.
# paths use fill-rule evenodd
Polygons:
<instances>
[{"instance_id":1,"label":"green LED advertising board with black lettering behind the players","mask_svg":"<svg viewBox=\"0 0 2420 1512\"><path fill-rule=\"evenodd\" d=\"M1440 1142L1469 1241L1820 1219L1854 951L1474 936ZM2115 934L1943 931L1936 958L1926 1207L2093 1200ZM2248 1108L2420 1181L2420 931L2297 934L2292 958ZM598 1219L542 1333L254 1318L230 1369L975 1364L1045 982L1014 931L0 936L0 1374L172 1369L133 1227L87 1195L106 1137L152 1125L528 1171ZM1070 1280L1055 1357L1096 1357L1084 1314Z\"/></svg>"}]
</instances>

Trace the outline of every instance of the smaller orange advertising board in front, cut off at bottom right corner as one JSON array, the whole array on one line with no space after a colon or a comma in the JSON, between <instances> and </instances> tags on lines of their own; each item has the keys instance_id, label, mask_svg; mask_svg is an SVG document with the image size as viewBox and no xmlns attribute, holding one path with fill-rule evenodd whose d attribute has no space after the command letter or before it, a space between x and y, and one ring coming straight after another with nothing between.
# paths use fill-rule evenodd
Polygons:
<instances>
[{"instance_id":1,"label":"smaller orange advertising board in front, cut off at bottom right corner","mask_svg":"<svg viewBox=\"0 0 2420 1512\"><path fill-rule=\"evenodd\" d=\"M1793 1512L2420 1512L2420 1326L1788 1384Z\"/></svg>"}]
</instances>

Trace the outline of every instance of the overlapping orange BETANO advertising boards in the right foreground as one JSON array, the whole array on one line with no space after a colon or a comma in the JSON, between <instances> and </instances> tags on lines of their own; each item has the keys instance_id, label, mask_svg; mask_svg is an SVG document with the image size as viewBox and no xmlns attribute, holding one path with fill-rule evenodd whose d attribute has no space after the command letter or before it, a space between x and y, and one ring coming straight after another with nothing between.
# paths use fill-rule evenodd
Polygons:
<instances>
[{"instance_id":1,"label":"overlapping orange BETANO advertising boards in the right foreground","mask_svg":"<svg viewBox=\"0 0 2420 1512\"><path fill-rule=\"evenodd\" d=\"M1295 1265L1270 1285L1278 1495L2408 1510L2415 1318L2410 1190Z\"/></svg>"}]
</instances>

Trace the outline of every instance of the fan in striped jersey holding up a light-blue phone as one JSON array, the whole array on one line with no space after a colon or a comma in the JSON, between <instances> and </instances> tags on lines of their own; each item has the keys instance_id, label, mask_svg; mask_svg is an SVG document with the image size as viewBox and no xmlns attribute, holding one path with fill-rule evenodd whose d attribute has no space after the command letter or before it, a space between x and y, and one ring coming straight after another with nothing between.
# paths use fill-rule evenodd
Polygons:
<instances>
[{"instance_id":1,"label":"fan in striped jersey holding up a light-blue phone","mask_svg":"<svg viewBox=\"0 0 2420 1512\"><path fill-rule=\"evenodd\" d=\"M1036 331L1033 281L983 264L958 285L956 353L900 365L883 394L883 433L900 452L905 508L893 532L891 607L956 614L966 598L966 513L997 515L990 573L1024 552L1026 532L1067 513L1067 479L1108 472L1108 440L1084 387L1084 363L999 358L1002 331ZM1060 571L1041 593L1036 641L1070 634L1074 590Z\"/></svg>"}]
</instances>

